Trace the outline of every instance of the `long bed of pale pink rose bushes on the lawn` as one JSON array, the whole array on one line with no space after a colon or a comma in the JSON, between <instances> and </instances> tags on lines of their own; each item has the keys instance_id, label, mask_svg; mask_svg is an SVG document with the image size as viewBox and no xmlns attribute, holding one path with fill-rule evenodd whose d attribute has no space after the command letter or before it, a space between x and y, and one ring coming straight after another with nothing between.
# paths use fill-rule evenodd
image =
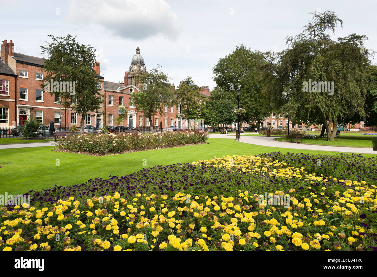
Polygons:
<instances>
[{"instance_id":1,"label":"long bed of pale pink rose bushes on the lawn","mask_svg":"<svg viewBox=\"0 0 377 277\"><path fill-rule=\"evenodd\" d=\"M207 133L198 130L162 132L153 134L141 133L86 133L84 135L60 138L55 149L67 152L86 152L106 155L125 151L141 151L155 148L197 144L208 139Z\"/></svg>"}]
</instances>

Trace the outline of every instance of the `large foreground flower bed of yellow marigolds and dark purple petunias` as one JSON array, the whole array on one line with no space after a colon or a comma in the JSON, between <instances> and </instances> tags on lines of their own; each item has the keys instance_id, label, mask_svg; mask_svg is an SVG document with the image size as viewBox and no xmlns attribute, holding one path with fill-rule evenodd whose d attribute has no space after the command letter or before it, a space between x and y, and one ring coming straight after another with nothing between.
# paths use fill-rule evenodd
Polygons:
<instances>
[{"instance_id":1,"label":"large foreground flower bed of yellow marigolds and dark purple petunias","mask_svg":"<svg viewBox=\"0 0 377 277\"><path fill-rule=\"evenodd\" d=\"M1 208L0 250L377 250L375 162L226 156L30 191Z\"/></svg>"}]
</instances>

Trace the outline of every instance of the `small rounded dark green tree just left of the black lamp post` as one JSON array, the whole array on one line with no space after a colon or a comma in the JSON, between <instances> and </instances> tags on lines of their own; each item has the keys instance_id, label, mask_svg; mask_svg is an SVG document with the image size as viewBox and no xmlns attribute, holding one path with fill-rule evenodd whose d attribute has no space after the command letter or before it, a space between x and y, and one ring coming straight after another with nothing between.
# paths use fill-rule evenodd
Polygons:
<instances>
[{"instance_id":1,"label":"small rounded dark green tree just left of the black lamp post","mask_svg":"<svg viewBox=\"0 0 377 277\"><path fill-rule=\"evenodd\" d=\"M233 107L236 106L231 92L216 89L211 91L208 101L205 103L206 124L218 126L219 124L232 124L236 121L236 116L232 113Z\"/></svg>"}]
</instances>

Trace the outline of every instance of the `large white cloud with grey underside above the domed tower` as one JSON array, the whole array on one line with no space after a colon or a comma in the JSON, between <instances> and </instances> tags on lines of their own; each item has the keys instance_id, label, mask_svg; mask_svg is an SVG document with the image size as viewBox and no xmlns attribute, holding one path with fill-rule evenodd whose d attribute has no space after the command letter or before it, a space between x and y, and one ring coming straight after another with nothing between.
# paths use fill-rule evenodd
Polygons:
<instances>
[{"instance_id":1,"label":"large white cloud with grey underside above the domed tower","mask_svg":"<svg viewBox=\"0 0 377 277\"><path fill-rule=\"evenodd\" d=\"M176 41L181 24L165 0L69 1L69 21L102 26L114 35L142 40L162 35Z\"/></svg>"}]
</instances>

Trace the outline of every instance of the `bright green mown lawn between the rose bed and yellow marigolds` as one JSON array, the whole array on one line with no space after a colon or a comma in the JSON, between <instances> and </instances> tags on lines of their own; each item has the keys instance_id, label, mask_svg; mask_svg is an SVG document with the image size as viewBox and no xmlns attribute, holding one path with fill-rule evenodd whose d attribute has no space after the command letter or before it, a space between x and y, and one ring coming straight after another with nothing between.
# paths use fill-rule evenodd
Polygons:
<instances>
[{"instance_id":1,"label":"bright green mown lawn between the rose bed and yellow marigolds","mask_svg":"<svg viewBox=\"0 0 377 277\"><path fill-rule=\"evenodd\" d=\"M41 190L53 185L72 185L96 177L109 175L124 176L143 167L193 162L224 155L256 155L280 151L301 153L322 153L334 155L337 152L320 152L290 148L265 147L240 143L234 139L210 138L208 144L165 148L111 156L88 156L75 153L51 151L53 147L28 147L0 150L0 194L25 193ZM375 155L364 155L375 156ZM60 165L56 165L59 159ZM146 159L147 165L143 165Z\"/></svg>"}]
</instances>

